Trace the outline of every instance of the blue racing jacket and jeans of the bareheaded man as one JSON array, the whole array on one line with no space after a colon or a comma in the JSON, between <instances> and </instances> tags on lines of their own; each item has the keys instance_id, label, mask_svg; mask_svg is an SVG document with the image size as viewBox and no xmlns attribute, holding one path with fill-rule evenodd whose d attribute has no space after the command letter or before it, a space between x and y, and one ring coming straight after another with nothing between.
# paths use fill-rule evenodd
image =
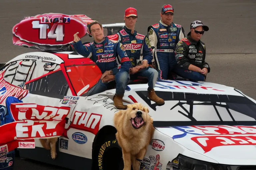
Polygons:
<instances>
[{"instance_id":1,"label":"blue racing jacket and jeans of the bareheaded man","mask_svg":"<svg viewBox=\"0 0 256 170\"><path fill-rule=\"evenodd\" d=\"M132 67L130 59L125 51L120 49L120 42L109 40L105 37L103 42L96 43L91 42L83 45L81 41L71 43L76 52L84 57L90 58L94 61L102 73L112 70L115 75L119 70L118 66L121 66L120 70L129 72L129 68ZM90 91L89 95L101 93L107 90L107 84L100 80Z\"/></svg>"}]
</instances>

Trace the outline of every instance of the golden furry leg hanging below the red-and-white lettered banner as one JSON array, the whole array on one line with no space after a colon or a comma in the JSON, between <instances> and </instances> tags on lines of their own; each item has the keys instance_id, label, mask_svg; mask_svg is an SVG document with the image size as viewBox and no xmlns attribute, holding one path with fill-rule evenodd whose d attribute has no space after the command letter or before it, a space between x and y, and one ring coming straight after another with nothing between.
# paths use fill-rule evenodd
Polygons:
<instances>
[{"instance_id":1,"label":"golden furry leg hanging below the red-and-white lettered banner","mask_svg":"<svg viewBox=\"0 0 256 170\"><path fill-rule=\"evenodd\" d=\"M48 139L39 139L42 146L47 149L51 150L51 158L55 159L57 152L56 152L56 142L58 140L58 137L52 137Z\"/></svg>"}]
</instances>

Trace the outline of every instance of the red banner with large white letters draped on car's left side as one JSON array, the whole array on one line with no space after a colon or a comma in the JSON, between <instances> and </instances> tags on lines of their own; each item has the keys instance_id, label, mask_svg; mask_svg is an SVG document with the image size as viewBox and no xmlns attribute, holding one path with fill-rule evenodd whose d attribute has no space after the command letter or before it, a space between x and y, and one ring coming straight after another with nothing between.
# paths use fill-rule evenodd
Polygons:
<instances>
[{"instance_id":1,"label":"red banner with large white letters draped on car's left side","mask_svg":"<svg viewBox=\"0 0 256 170\"><path fill-rule=\"evenodd\" d=\"M10 110L16 121L0 126L0 145L15 149L33 148L34 138L62 136L70 108L15 103Z\"/></svg>"}]
</instances>

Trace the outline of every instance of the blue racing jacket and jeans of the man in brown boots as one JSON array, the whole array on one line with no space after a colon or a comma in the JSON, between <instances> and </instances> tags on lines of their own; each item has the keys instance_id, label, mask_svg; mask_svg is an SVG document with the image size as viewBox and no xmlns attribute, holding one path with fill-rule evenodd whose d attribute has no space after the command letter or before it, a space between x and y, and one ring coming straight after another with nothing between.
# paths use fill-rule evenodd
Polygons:
<instances>
[{"instance_id":1,"label":"blue racing jacket and jeans of the man in brown boots","mask_svg":"<svg viewBox=\"0 0 256 170\"><path fill-rule=\"evenodd\" d=\"M138 34L136 31L134 31L132 34L131 30L126 26L124 26L124 29L119 31L117 35L119 37L121 49L126 51L132 63L132 67L140 65L142 61L151 63L153 56L147 37ZM131 78L136 78L136 76L147 77L149 86L148 88L151 90L155 87L157 75L157 70L148 67L130 76ZM116 81L116 95L123 96L129 80L129 72L119 71L116 74L116 77L118 77L118 80Z\"/></svg>"}]
</instances>

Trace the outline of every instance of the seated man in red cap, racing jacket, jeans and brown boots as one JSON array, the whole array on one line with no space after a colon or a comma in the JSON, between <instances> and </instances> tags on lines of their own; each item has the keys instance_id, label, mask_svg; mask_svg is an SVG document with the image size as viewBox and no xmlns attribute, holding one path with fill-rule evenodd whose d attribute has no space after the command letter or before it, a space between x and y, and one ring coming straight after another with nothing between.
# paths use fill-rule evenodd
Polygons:
<instances>
[{"instance_id":1,"label":"seated man in red cap, racing jacket, jeans and brown boots","mask_svg":"<svg viewBox=\"0 0 256 170\"><path fill-rule=\"evenodd\" d=\"M126 51L132 63L133 68L130 69L130 78L134 79L137 76L147 77L149 86L148 98L157 104L164 104L164 100L159 98L154 90L158 72L154 68L149 67L148 64L153 59L151 48L148 46L149 40L134 30L137 17L137 10L135 8L127 8L124 15L124 29L117 33L121 49ZM127 106L123 105L122 98L129 81L129 73L121 69L116 74L116 78L114 104L118 109L126 109Z\"/></svg>"}]
</instances>

